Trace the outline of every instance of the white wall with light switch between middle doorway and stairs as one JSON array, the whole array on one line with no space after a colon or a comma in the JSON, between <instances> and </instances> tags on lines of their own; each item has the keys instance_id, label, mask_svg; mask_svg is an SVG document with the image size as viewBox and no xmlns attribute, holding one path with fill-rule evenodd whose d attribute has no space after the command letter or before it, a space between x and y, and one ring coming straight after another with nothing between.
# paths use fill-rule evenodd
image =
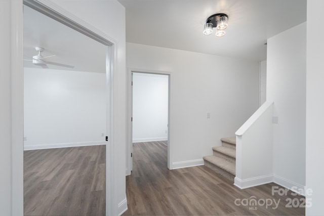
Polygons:
<instances>
[{"instance_id":1,"label":"white wall with light switch between middle doorway and stairs","mask_svg":"<svg viewBox=\"0 0 324 216\"><path fill-rule=\"evenodd\" d=\"M127 43L127 66L171 72L173 167L203 164L259 107L259 62Z\"/></svg>"}]
</instances>

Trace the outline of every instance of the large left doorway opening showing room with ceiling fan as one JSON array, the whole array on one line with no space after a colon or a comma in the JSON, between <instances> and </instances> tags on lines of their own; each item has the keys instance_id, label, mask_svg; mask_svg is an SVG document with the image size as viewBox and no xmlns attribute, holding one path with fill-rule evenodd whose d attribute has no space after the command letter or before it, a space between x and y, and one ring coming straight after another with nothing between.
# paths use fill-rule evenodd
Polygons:
<instances>
[{"instance_id":1,"label":"large left doorway opening showing room with ceiling fan","mask_svg":"<svg viewBox=\"0 0 324 216\"><path fill-rule=\"evenodd\" d=\"M23 13L24 214L105 215L106 46Z\"/></svg>"}]
</instances>

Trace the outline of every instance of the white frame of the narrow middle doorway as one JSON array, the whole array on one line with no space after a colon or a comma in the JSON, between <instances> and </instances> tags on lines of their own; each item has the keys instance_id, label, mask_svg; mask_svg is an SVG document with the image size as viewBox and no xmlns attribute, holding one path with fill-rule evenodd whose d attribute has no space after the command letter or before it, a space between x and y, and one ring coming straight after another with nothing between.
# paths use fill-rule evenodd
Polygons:
<instances>
[{"instance_id":1,"label":"white frame of the narrow middle doorway","mask_svg":"<svg viewBox=\"0 0 324 216\"><path fill-rule=\"evenodd\" d=\"M172 167L172 142L171 142L171 78L172 73L169 71L160 71L160 70L149 70L149 69L139 69L139 68L128 68L127 73L127 146L126 146L126 176L132 174L133 170L133 88L132 88L132 74L133 73L148 73L148 74L160 74L160 75L168 75L168 169L173 169Z\"/></svg>"}]
</instances>

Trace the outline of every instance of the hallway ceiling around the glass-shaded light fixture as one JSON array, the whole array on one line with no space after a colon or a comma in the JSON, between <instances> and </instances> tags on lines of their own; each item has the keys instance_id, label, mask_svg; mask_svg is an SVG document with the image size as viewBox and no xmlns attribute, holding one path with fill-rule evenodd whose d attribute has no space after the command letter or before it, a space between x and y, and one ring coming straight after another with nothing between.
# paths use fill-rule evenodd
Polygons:
<instances>
[{"instance_id":1,"label":"hallway ceiling around the glass-shaded light fixture","mask_svg":"<svg viewBox=\"0 0 324 216\"><path fill-rule=\"evenodd\" d=\"M306 21L306 0L118 0L126 41L261 61L267 38ZM206 19L228 15L225 36L203 35Z\"/></svg>"}]
</instances>

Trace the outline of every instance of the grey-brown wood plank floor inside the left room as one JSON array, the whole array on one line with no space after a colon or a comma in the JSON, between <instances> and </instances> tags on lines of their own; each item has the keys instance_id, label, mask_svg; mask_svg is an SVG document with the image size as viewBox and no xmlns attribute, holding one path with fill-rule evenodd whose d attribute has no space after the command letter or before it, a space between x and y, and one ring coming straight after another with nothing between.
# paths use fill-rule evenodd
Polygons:
<instances>
[{"instance_id":1,"label":"grey-brown wood plank floor inside the left room","mask_svg":"<svg viewBox=\"0 0 324 216\"><path fill-rule=\"evenodd\" d=\"M24 151L25 215L105 215L106 147Z\"/></svg>"}]
</instances>

